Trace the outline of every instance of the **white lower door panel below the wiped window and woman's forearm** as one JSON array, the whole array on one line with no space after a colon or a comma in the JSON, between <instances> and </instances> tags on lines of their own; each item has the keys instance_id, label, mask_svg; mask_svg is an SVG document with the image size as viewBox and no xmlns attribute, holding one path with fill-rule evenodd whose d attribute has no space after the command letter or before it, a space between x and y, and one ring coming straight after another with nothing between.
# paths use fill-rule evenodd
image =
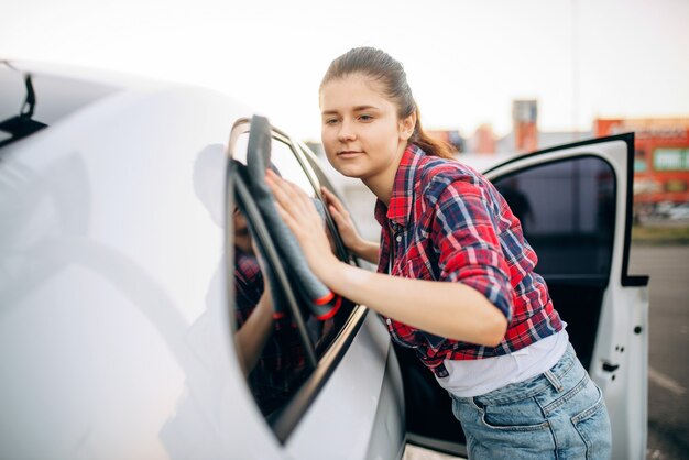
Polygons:
<instances>
[{"instance_id":1,"label":"white lower door panel below the wiped window and woman's forearm","mask_svg":"<svg viewBox=\"0 0 689 460\"><path fill-rule=\"evenodd\" d=\"M347 355L289 437L287 451L293 458L392 459L401 454L404 401L398 370L386 365L390 353L387 330L369 311ZM396 392L385 387L391 381L397 382Z\"/></svg>"}]
</instances>

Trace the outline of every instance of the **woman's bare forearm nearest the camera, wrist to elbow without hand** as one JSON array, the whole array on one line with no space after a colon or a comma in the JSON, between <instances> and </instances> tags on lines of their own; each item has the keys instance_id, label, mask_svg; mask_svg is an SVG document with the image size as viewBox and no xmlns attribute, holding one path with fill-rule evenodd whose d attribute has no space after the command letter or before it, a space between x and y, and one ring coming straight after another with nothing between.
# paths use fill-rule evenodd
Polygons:
<instances>
[{"instance_id":1,"label":"woman's bare forearm nearest the camera, wrist to elbow without hand","mask_svg":"<svg viewBox=\"0 0 689 460\"><path fill-rule=\"evenodd\" d=\"M507 319L483 294L461 283L411 280L338 263L324 276L335 292L436 336L494 347Z\"/></svg>"}]
</instances>

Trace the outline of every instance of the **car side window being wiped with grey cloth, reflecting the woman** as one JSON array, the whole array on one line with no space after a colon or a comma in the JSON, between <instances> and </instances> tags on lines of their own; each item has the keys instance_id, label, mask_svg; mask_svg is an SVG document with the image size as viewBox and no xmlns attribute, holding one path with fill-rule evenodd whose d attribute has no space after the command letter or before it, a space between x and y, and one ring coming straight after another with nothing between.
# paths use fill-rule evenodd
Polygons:
<instances>
[{"instance_id":1,"label":"car side window being wiped with grey cloth, reflecting the woman","mask_svg":"<svg viewBox=\"0 0 689 460\"><path fill-rule=\"evenodd\" d=\"M241 165L247 162L248 139L248 133L240 134L231 149L233 160ZM297 184L311 198L319 199L286 139L274 136L271 152L272 166L282 177ZM316 361L324 357L347 324L353 305L341 299L336 315L318 319L309 309L310 304L303 297L302 289L295 285L295 280L289 276L289 267L284 267L289 280L281 284L275 275L275 265L284 264L284 260L271 260L263 253L262 239L270 239L270 232L262 230L265 223L260 213L242 211L250 205L243 202L247 200L251 200L251 196L234 196L239 206L232 215L233 332L240 362L245 363L247 383L256 404L266 419L275 420L313 374ZM258 242L256 234L261 236ZM272 289L269 289L271 286ZM266 289L273 293L274 314L266 313L264 308Z\"/></svg>"}]
</instances>

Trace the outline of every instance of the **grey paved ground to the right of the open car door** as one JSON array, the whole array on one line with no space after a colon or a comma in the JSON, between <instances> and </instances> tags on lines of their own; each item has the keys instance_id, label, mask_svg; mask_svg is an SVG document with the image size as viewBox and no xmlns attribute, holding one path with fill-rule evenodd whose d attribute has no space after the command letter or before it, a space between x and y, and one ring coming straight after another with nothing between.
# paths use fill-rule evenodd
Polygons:
<instances>
[{"instance_id":1,"label":"grey paved ground to the right of the open car door","mask_svg":"<svg viewBox=\"0 0 689 460\"><path fill-rule=\"evenodd\" d=\"M689 458L689 245L632 247L650 275L647 459Z\"/></svg>"}]
</instances>

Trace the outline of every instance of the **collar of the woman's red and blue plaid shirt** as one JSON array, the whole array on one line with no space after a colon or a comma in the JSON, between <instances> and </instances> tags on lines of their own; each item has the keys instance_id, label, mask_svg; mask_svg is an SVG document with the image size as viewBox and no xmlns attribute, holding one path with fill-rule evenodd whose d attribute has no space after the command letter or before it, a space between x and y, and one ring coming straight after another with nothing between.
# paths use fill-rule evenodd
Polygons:
<instances>
[{"instance_id":1,"label":"collar of the woman's red and blue plaid shirt","mask_svg":"<svg viewBox=\"0 0 689 460\"><path fill-rule=\"evenodd\" d=\"M375 220L381 227L385 227L386 219L402 227L407 226L414 201L414 184L416 183L414 177L419 162L425 156L424 151L414 144L405 149L392 185L390 206L385 207L380 199L375 201Z\"/></svg>"}]
</instances>

